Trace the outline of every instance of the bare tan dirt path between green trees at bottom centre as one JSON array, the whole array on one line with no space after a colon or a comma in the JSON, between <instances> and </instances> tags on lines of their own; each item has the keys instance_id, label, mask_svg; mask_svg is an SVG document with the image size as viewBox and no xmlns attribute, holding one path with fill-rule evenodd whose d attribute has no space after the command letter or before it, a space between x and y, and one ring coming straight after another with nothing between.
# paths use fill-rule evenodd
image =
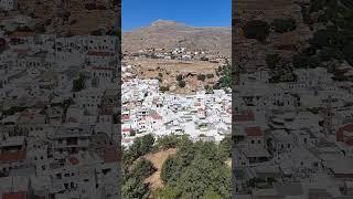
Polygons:
<instances>
[{"instance_id":1,"label":"bare tan dirt path between green trees at bottom centre","mask_svg":"<svg viewBox=\"0 0 353 199\"><path fill-rule=\"evenodd\" d=\"M163 182L160 178L163 163L171 155L176 154L176 148L170 148L168 150L161 150L154 154L148 154L143 156L146 159L150 160L153 166L157 168L157 171L152 174L152 176L148 177L145 182L150 184L150 190L156 190L159 188L163 188Z\"/></svg>"}]
</instances>

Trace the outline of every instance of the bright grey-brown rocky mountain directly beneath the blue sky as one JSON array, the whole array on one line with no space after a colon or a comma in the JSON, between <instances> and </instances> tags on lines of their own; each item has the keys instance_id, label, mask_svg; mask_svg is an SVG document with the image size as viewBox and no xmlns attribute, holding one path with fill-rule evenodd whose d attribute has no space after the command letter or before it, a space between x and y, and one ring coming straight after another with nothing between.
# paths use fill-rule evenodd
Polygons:
<instances>
[{"instance_id":1,"label":"bright grey-brown rocky mountain directly beneath the blue sky","mask_svg":"<svg viewBox=\"0 0 353 199\"><path fill-rule=\"evenodd\" d=\"M172 50L183 46L212 54L231 56L231 28L191 27L175 21L158 20L148 27L122 33L124 52L142 49Z\"/></svg>"}]
</instances>

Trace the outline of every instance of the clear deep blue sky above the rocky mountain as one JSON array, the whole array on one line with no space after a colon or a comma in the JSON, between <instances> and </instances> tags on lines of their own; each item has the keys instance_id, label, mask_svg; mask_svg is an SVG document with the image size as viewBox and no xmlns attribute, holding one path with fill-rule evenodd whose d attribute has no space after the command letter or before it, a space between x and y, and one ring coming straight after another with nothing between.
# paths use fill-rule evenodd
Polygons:
<instances>
[{"instance_id":1,"label":"clear deep blue sky above the rocky mountain","mask_svg":"<svg viewBox=\"0 0 353 199\"><path fill-rule=\"evenodd\" d=\"M163 19L195 27L231 27L232 0L121 0L122 31Z\"/></svg>"}]
</instances>

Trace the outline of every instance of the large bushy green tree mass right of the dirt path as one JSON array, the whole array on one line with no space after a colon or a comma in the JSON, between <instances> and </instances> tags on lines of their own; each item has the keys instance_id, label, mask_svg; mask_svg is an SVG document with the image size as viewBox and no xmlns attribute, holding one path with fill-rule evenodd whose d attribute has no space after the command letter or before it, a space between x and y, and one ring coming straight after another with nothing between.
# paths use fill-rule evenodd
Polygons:
<instances>
[{"instance_id":1,"label":"large bushy green tree mass right of the dirt path","mask_svg":"<svg viewBox=\"0 0 353 199\"><path fill-rule=\"evenodd\" d=\"M173 188L179 198L231 198L231 169L224 163L228 157L220 145L184 137L178 146L162 167L165 188Z\"/></svg>"}]
</instances>

